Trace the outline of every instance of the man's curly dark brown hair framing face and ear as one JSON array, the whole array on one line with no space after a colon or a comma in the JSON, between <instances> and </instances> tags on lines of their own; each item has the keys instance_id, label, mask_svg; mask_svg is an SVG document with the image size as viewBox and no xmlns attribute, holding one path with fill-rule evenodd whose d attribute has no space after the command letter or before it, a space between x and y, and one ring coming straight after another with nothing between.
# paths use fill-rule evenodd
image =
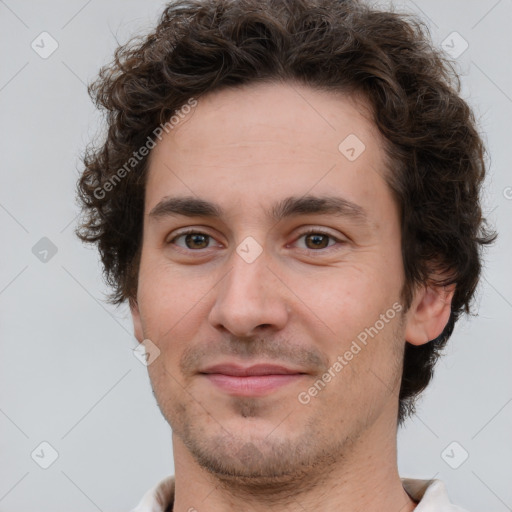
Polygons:
<instances>
[{"instance_id":1,"label":"man's curly dark brown hair framing face and ear","mask_svg":"<svg viewBox=\"0 0 512 512\"><path fill-rule=\"evenodd\" d=\"M481 252L496 238L480 204L485 148L474 115L459 95L453 64L416 17L357 0L168 4L156 29L120 46L89 86L108 131L83 157L77 185L83 217L75 233L98 244L113 288L109 302L133 304L148 158L138 158L129 172L126 162L190 98L282 80L362 93L372 106L392 163L387 181L401 210L405 311L416 285L456 285L442 334L422 346L406 342L401 425L415 412L455 322L471 313ZM122 179L113 183L122 168Z\"/></svg>"}]
</instances>

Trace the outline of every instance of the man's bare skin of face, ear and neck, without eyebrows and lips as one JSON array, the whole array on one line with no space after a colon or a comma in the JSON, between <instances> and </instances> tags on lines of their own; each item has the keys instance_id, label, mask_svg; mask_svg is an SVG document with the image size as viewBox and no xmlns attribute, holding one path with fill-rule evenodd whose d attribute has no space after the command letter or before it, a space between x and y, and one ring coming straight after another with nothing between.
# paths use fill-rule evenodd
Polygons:
<instances>
[{"instance_id":1,"label":"man's bare skin of face, ear and neck, without eyebrows and lips","mask_svg":"<svg viewBox=\"0 0 512 512\"><path fill-rule=\"evenodd\" d=\"M350 134L366 146L354 161L338 149ZM292 83L204 96L152 150L131 312L137 340L160 350L148 371L173 431L176 512L415 508L396 462L401 361L406 339L441 333L453 290L419 287L405 314L309 403L298 400L401 304L399 210L386 172L363 98ZM343 197L367 218L266 215L305 194ZM215 202L224 214L151 218L168 196ZM178 237L183 228L203 236ZM304 235L310 228L328 236ZM236 251L247 237L262 249L251 263ZM304 375L265 396L233 396L198 373L225 361Z\"/></svg>"}]
</instances>

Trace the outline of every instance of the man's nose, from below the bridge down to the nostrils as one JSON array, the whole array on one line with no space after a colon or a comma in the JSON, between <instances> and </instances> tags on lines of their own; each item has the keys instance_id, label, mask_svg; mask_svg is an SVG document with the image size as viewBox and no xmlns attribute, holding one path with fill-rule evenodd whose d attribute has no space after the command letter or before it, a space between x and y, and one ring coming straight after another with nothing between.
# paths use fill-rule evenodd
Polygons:
<instances>
[{"instance_id":1,"label":"man's nose, from below the bridge down to the nostrils","mask_svg":"<svg viewBox=\"0 0 512 512\"><path fill-rule=\"evenodd\" d=\"M214 288L215 303L208 317L211 325L237 337L254 336L261 329L282 329L289 314L286 286L267 266L265 252L251 263L233 252L228 264L229 271Z\"/></svg>"}]
</instances>

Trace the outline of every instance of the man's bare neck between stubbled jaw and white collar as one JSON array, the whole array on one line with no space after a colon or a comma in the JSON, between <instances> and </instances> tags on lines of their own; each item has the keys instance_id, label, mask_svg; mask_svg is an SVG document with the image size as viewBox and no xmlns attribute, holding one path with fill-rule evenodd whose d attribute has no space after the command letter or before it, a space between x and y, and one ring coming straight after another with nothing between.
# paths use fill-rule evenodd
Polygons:
<instances>
[{"instance_id":1,"label":"man's bare neck between stubbled jaw and white collar","mask_svg":"<svg viewBox=\"0 0 512 512\"><path fill-rule=\"evenodd\" d=\"M396 424L374 424L342 454L289 482L261 485L209 473L173 434L174 512L304 512L324 510L411 512L415 502L402 487L396 462ZM385 432L385 434L384 434ZM346 449L345 449L346 448Z\"/></svg>"}]
</instances>

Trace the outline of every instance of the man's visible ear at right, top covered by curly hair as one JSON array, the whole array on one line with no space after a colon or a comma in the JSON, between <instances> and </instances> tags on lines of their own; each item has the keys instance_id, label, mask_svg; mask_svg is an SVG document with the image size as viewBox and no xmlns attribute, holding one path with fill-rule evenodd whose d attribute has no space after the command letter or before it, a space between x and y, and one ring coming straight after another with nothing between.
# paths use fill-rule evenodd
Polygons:
<instances>
[{"instance_id":1,"label":"man's visible ear at right, top covered by curly hair","mask_svg":"<svg viewBox=\"0 0 512 512\"><path fill-rule=\"evenodd\" d=\"M405 339L423 345L437 338L450 319L455 285L420 287L407 312Z\"/></svg>"}]
</instances>

